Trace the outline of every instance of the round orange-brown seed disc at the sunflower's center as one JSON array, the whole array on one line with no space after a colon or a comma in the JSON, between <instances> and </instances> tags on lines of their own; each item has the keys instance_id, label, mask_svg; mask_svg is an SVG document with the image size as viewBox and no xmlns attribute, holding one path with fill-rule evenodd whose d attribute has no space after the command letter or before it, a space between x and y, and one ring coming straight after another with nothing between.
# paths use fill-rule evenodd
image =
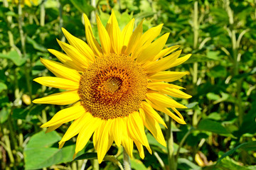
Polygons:
<instances>
[{"instance_id":1,"label":"round orange-brown seed disc at the sunflower's center","mask_svg":"<svg viewBox=\"0 0 256 170\"><path fill-rule=\"evenodd\" d=\"M110 54L82 72L78 94L86 111L108 120L138 111L146 85L146 73L130 56Z\"/></svg>"}]
</instances>

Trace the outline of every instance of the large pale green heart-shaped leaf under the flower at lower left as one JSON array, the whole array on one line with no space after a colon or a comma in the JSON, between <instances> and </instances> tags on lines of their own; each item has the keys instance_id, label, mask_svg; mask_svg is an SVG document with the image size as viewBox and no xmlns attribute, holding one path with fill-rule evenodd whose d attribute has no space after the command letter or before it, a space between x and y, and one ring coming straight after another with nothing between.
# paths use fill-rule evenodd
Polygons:
<instances>
[{"instance_id":1,"label":"large pale green heart-shaped leaf under the flower at lower left","mask_svg":"<svg viewBox=\"0 0 256 170\"><path fill-rule=\"evenodd\" d=\"M33 135L24 149L26 169L42 169L53 164L72 161L75 145L58 149L56 142L60 138L55 131L49 133L41 131Z\"/></svg>"}]
</instances>

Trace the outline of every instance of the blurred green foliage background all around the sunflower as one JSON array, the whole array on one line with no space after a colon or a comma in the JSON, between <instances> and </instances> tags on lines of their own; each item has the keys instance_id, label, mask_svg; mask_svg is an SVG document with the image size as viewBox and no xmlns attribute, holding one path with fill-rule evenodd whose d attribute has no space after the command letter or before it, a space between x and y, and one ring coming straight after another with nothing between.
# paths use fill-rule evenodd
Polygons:
<instances>
[{"instance_id":1,"label":"blurred green foliage background all around the sunflower","mask_svg":"<svg viewBox=\"0 0 256 170\"><path fill-rule=\"evenodd\" d=\"M153 154L145 150L142 160L134 149L132 169L171 169L171 154L177 169L256 169L255 0L47 0L32 5L0 0L1 169L119 169L122 148L115 145L107 153L114 156L100 166L93 160L92 143L72 162L75 137L58 149L69 124L47 134L39 128L63 106L31 103L58 92L33 79L51 75L39 60L56 60L47 49L61 50L55 40L65 41L60 28L85 40L86 13L97 37L92 13L99 13L105 24L111 8L120 28L131 18L136 25L145 18L144 30L164 23L161 34L171 33L166 46L181 45L182 55L193 54L175 68L190 72L176 81L193 96L176 98L188 106L181 111L187 124L165 118L166 140L174 140L168 148L146 132Z\"/></svg>"}]
</instances>

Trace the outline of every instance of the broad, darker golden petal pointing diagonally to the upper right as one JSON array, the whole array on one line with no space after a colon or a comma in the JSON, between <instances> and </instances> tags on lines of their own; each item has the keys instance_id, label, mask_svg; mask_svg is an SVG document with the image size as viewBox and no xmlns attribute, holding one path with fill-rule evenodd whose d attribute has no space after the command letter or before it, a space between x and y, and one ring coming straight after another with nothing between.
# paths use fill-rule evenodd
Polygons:
<instances>
[{"instance_id":1,"label":"broad, darker golden petal pointing diagonally to the upper right","mask_svg":"<svg viewBox=\"0 0 256 170\"><path fill-rule=\"evenodd\" d=\"M154 57L163 49L170 33L162 35L159 39L152 42L137 56L137 62L144 63L148 60L153 60Z\"/></svg>"}]
</instances>

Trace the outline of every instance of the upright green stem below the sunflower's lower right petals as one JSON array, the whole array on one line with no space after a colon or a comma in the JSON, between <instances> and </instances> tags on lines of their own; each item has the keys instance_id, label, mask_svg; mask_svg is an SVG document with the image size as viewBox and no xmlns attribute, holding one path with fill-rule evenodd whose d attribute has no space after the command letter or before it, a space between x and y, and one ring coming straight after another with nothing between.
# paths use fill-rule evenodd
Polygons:
<instances>
[{"instance_id":1,"label":"upright green stem below the sunflower's lower right petals","mask_svg":"<svg viewBox=\"0 0 256 170\"><path fill-rule=\"evenodd\" d=\"M167 152L168 152L168 163L169 163L169 170L176 170L177 169L177 162L175 162L174 157L174 135L171 129L171 121L172 119L169 118L168 115L165 115L166 125L167 125Z\"/></svg>"}]
</instances>

